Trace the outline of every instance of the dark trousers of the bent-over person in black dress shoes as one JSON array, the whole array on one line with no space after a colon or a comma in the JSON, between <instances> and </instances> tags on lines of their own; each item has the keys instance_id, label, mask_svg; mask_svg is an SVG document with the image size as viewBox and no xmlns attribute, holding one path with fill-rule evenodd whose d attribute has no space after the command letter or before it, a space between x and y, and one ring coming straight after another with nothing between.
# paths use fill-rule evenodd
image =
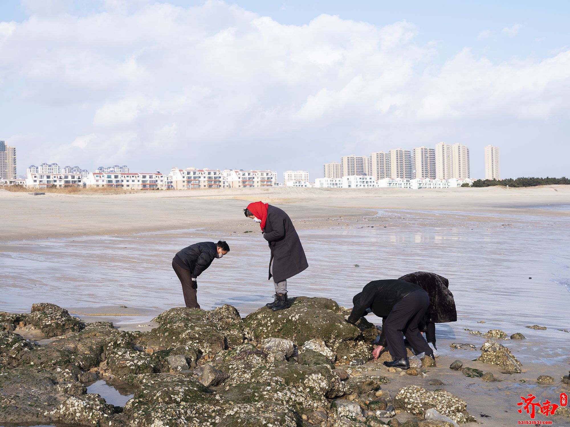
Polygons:
<instances>
[{"instance_id":1,"label":"dark trousers of the bent-over person in black dress shoes","mask_svg":"<svg viewBox=\"0 0 570 427\"><path fill-rule=\"evenodd\" d=\"M432 350L422 336L418 323L424 317L429 306L429 296L422 290L409 293L401 301L394 304L392 311L382 322L382 331L388 340L388 350L394 359L408 357L404 345L404 335L416 354L425 352L430 355Z\"/></svg>"}]
</instances>

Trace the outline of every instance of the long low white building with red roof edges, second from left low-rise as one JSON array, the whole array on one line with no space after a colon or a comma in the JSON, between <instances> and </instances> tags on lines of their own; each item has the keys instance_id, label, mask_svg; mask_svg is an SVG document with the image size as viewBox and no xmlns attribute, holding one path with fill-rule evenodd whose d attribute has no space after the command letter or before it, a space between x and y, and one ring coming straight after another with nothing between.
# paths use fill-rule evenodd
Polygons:
<instances>
[{"instance_id":1,"label":"long low white building with red roof edges, second from left low-rise","mask_svg":"<svg viewBox=\"0 0 570 427\"><path fill-rule=\"evenodd\" d=\"M87 187L120 188L122 190L172 190L172 176L156 173L101 173L92 172Z\"/></svg>"}]
</instances>

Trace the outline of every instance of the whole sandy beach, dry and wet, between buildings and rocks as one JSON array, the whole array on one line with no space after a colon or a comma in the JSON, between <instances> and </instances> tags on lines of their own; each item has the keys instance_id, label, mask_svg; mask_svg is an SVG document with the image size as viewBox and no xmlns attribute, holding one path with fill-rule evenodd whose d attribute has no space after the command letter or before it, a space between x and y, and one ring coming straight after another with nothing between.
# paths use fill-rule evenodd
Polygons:
<instances>
[{"instance_id":1,"label":"whole sandy beach, dry and wet, between buildings and rocks","mask_svg":"<svg viewBox=\"0 0 570 427\"><path fill-rule=\"evenodd\" d=\"M447 277L458 321L437 326L441 355L431 379L466 400L483 425L516 424L525 419L516 412L519 396L532 391L553 400L567 388L560 383L570 368L567 187L0 192L0 311L27 312L34 302L51 302L84 321L149 331L153 317L183 303L170 266L174 254L196 241L222 239L231 251L198 278L198 301L206 310L230 304L242 317L253 313L274 291L267 244L242 210L263 200L289 213L307 253L310 266L290 280L291 295L351 307L352 296L372 280L418 270ZM546 329L526 328L532 325ZM501 341L522 373L505 375L472 362L486 340L473 331L497 329L526 336ZM457 375L448 368L455 359L501 381ZM539 375L556 381L537 385ZM385 389L397 391L418 378L391 380Z\"/></svg>"}]
</instances>

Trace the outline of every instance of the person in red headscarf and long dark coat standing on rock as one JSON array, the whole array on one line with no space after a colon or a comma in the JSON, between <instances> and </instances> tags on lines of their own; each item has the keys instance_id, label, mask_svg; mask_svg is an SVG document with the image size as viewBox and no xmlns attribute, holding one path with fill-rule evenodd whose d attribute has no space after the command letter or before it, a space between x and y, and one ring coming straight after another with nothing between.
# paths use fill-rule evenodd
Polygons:
<instances>
[{"instance_id":1,"label":"person in red headscarf and long dark coat standing on rock","mask_svg":"<svg viewBox=\"0 0 570 427\"><path fill-rule=\"evenodd\" d=\"M287 309L287 279L309 266L299 235L287 213L268 203L250 203L243 213L259 223L271 251L268 278L273 278L275 284L275 300L266 307L274 311Z\"/></svg>"}]
</instances>

